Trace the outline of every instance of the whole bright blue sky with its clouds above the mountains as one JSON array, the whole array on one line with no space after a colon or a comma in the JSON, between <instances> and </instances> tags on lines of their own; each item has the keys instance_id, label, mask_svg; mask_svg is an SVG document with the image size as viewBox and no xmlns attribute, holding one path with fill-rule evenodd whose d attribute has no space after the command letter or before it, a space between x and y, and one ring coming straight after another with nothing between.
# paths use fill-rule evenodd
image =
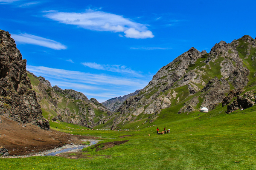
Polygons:
<instances>
[{"instance_id":1,"label":"whole bright blue sky with its clouds above the mountains","mask_svg":"<svg viewBox=\"0 0 256 170\"><path fill-rule=\"evenodd\" d=\"M0 0L27 70L104 102L191 47L256 37L255 0Z\"/></svg>"}]
</instances>

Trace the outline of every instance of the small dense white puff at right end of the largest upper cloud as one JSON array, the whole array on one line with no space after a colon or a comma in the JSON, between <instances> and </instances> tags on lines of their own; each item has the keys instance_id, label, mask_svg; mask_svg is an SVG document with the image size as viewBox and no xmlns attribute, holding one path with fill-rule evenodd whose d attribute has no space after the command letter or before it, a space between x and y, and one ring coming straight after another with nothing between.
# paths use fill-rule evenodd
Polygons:
<instances>
[{"instance_id":1,"label":"small dense white puff at right end of the largest upper cloud","mask_svg":"<svg viewBox=\"0 0 256 170\"><path fill-rule=\"evenodd\" d=\"M138 31L134 28L129 28L124 33L125 33L125 37L127 37L127 38L140 39L140 38L153 38L154 37L152 32L149 30L148 31Z\"/></svg>"}]
</instances>

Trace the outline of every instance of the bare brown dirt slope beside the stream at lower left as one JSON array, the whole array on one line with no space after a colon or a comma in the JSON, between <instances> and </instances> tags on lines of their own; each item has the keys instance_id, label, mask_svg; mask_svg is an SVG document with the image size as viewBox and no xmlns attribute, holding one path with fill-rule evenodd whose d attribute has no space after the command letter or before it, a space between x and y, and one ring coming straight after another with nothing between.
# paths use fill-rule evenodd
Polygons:
<instances>
[{"instance_id":1,"label":"bare brown dirt slope beside the stream at lower left","mask_svg":"<svg viewBox=\"0 0 256 170\"><path fill-rule=\"evenodd\" d=\"M56 130L43 130L40 127L22 125L1 116L0 147L5 147L10 156L29 155L62 147L65 144L82 144L80 139L98 139L93 136L71 135Z\"/></svg>"}]
</instances>

